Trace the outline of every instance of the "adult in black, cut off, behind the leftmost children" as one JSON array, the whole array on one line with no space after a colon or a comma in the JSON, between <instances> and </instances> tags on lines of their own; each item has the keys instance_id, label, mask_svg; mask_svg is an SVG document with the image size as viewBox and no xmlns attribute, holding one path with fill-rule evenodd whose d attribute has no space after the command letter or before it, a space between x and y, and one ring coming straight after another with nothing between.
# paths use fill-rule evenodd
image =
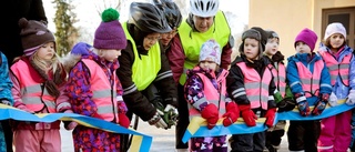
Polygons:
<instances>
[{"instance_id":1,"label":"adult in black, cut off, behind the leftmost children","mask_svg":"<svg viewBox=\"0 0 355 152\"><path fill-rule=\"evenodd\" d=\"M9 13L8 10L12 10ZM0 50L8 58L9 67L14 58L23 54L19 20L37 20L48 22L42 0L2 0L0 3L0 18L3 22L0 24ZM12 130L8 120L1 121L3 128L7 151L12 152Z\"/></svg>"}]
</instances>

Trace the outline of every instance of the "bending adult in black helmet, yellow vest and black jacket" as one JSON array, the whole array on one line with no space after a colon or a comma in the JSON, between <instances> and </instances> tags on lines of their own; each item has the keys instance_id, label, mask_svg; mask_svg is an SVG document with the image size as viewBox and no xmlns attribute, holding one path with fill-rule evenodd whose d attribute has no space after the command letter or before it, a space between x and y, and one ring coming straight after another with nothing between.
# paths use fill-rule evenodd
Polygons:
<instances>
[{"instance_id":1,"label":"bending adult in black helmet, yellow vest and black jacket","mask_svg":"<svg viewBox=\"0 0 355 152\"><path fill-rule=\"evenodd\" d=\"M122 82L128 115L132 119L134 113L151 125L169 129L174 122L162 115L166 111L178 114L178 92L159 40L171 28L163 12L148 2L132 2L129 20L122 27L128 45L119 59L116 75Z\"/></svg>"}]
</instances>

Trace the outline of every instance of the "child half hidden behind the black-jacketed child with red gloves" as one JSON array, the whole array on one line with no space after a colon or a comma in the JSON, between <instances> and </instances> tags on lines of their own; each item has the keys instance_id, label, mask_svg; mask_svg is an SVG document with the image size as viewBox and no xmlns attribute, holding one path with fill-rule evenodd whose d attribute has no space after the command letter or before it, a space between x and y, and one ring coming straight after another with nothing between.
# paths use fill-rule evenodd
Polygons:
<instances>
[{"instance_id":1,"label":"child half hidden behind the black-jacketed child with red gloves","mask_svg":"<svg viewBox=\"0 0 355 152\"><path fill-rule=\"evenodd\" d=\"M268 57L273 64L272 73L274 82L278 90L274 94L275 102L278 107L278 112L290 111L295 108L293 94L286 87L286 68L284 64L284 55L278 51L280 37L274 31L267 32L267 42L264 54ZM278 121L275 126L266 131L266 148L270 152L276 152L280 149L282 136L285 133L286 121Z\"/></svg>"}]
</instances>

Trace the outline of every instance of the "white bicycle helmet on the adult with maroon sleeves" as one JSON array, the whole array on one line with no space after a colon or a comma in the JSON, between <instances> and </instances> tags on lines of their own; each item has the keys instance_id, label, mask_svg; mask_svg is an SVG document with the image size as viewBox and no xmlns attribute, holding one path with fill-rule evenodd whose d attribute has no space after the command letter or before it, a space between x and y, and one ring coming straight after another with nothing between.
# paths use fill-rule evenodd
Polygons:
<instances>
[{"instance_id":1,"label":"white bicycle helmet on the adult with maroon sleeves","mask_svg":"<svg viewBox=\"0 0 355 152\"><path fill-rule=\"evenodd\" d=\"M190 12L199 17L213 17L217 13L219 0L190 0Z\"/></svg>"}]
</instances>

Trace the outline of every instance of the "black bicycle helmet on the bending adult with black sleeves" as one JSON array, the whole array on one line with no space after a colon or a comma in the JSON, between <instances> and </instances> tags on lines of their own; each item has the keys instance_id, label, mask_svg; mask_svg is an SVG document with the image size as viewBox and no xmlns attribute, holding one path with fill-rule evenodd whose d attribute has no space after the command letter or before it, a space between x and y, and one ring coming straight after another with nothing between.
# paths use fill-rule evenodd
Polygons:
<instances>
[{"instance_id":1,"label":"black bicycle helmet on the bending adult with black sleeves","mask_svg":"<svg viewBox=\"0 0 355 152\"><path fill-rule=\"evenodd\" d=\"M129 23L133 23L143 32L170 32L171 28L154 4L146 2L132 2L130 7Z\"/></svg>"}]
</instances>

